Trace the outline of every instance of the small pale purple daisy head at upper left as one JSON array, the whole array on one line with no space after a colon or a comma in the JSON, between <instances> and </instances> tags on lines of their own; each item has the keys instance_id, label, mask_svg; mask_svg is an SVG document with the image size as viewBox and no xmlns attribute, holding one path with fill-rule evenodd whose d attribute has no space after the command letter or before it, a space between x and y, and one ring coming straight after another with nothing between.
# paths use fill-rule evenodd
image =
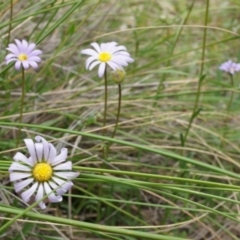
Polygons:
<instances>
[{"instance_id":1,"label":"small pale purple daisy head at upper left","mask_svg":"<svg viewBox=\"0 0 240 240\"><path fill-rule=\"evenodd\" d=\"M41 58L38 56L42 54L42 51L35 49L35 43L28 43L26 40L15 39L16 44L10 43L7 50L10 51L6 57L6 64L15 62L15 68L20 69L21 65L24 69L28 69L29 66L33 68L38 67L38 63L41 62Z\"/></svg>"}]
</instances>

